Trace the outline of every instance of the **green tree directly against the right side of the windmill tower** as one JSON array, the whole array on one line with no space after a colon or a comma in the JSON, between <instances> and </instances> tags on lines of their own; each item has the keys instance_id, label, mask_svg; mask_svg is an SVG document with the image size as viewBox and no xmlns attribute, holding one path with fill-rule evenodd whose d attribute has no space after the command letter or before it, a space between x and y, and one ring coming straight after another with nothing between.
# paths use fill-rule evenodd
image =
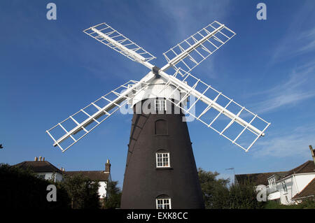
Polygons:
<instances>
[{"instance_id":1,"label":"green tree directly against the right side of the windmill tower","mask_svg":"<svg viewBox=\"0 0 315 223\"><path fill-rule=\"evenodd\" d=\"M217 179L219 173L198 168L205 208L229 208L229 179Z\"/></svg>"}]
</instances>

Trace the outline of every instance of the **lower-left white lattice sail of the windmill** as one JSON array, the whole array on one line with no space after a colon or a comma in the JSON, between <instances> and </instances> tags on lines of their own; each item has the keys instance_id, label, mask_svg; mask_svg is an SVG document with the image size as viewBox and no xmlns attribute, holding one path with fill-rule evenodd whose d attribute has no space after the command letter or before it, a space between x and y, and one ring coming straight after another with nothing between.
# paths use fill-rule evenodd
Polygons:
<instances>
[{"instance_id":1,"label":"lower-left white lattice sail of the windmill","mask_svg":"<svg viewBox=\"0 0 315 223\"><path fill-rule=\"evenodd\" d=\"M145 86L144 81L130 80L80 109L77 113L70 115L46 132L54 141L54 146L58 146L64 152L111 117L122 106L125 106L125 103L141 92ZM81 132L83 134L80 134Z\"/></svg>"}]
</instances>

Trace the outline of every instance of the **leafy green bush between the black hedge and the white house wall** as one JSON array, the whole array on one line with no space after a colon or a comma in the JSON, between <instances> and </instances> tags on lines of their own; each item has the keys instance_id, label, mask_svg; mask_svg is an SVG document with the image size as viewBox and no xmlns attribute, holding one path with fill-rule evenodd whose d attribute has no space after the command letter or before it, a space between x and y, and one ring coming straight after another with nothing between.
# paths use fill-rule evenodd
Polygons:
<instances>
[{"instance_id":1,"label":"leafy green bush between the black hedge and the white house wall","mask_svg":"<svg viewBox=\"0 0 315 223\"><path fill-rule=\"evenodd\" d=\"M99 182L95 182L82 174L64 176L64 182L60 183L71 199L71 208L81 209L99 208Z\"/></svg>"}]
</instances>

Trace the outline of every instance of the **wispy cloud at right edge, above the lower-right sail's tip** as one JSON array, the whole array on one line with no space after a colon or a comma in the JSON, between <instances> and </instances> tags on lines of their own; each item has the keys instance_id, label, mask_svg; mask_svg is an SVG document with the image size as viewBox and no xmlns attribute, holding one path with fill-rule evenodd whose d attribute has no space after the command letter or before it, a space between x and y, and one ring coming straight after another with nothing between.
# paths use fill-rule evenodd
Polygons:
<instances>
[{"instance_id":1,"label":"wispy cloud at right edge, above the lower-right sail's tip","mask_svg":"<svg viewBox=\"0 0 315 223\"><path fill-rule=\"evenodd\" d=\"M315 64L309 63L293 69L288 80L278 85L258 92L255 96L265 98L259 103L254 103L251 108L257 113L267 113L280 108L295 106L297 103L315 96L314 78Z\"/></svg>"}]
</instances>

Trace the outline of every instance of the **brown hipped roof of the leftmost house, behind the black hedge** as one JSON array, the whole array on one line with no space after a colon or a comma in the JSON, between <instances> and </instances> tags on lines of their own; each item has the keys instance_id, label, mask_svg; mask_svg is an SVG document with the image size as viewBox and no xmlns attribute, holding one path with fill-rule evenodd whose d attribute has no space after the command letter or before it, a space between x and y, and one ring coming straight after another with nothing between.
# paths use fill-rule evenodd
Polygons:
<instances>
[{"instance_id":1,"label":"brown hipped roof of the leftmost house, behind the black hedge","mask_svg":"<svg viewBox=\"0 0 315 223\"><path fill-rule=\"evenodd\" d=\"M23 161L14 166L19 168L29 168L34 173L62 173L56 166L50 164L49 161Z\"/></svg>"}]
</instances>

